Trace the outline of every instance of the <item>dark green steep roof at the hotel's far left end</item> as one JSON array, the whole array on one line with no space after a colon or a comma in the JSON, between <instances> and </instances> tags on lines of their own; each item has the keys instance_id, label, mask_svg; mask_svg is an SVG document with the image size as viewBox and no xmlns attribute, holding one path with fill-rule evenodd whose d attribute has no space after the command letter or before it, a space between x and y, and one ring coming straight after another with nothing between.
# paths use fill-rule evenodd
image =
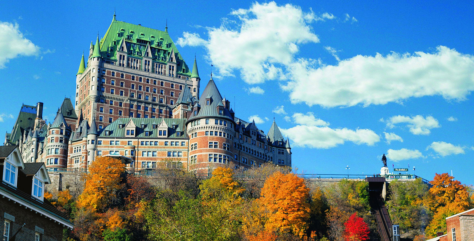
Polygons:
<instances>
[{"instance_id":1,"label":"dark green steep roof at the hotel's far left end","mask_svg":"<svg viewBox=\"0 0 474 241\"><path fill-rule=\"evenodd\" d=\"M22 105L17 121L15 121L15 124L13 125L13 129L6 135L5 144L16 144L23 131L33 129L33 126L35 125L35 118L36 106L25 104Z\"/></svg>"}]
</instances>

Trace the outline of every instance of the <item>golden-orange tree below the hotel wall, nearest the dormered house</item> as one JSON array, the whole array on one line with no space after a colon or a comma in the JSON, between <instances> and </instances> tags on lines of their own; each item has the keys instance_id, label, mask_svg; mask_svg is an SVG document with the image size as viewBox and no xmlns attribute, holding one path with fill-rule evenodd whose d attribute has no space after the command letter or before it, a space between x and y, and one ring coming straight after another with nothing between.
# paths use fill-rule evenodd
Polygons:
<instances>
[{"instance_id":1,"label":"golden-orange tree below the hotel wall, nearest the dormered house","mask_svg":"<svg viewBox=\"0 0 474 241\"><path fill-rule=\"evenodd\" d=\"M120 160L96 157L85 176L85 186L77 200L80 208L103 211L120 188L120 174L125 171Z\"/></svg>"}]
</instances>

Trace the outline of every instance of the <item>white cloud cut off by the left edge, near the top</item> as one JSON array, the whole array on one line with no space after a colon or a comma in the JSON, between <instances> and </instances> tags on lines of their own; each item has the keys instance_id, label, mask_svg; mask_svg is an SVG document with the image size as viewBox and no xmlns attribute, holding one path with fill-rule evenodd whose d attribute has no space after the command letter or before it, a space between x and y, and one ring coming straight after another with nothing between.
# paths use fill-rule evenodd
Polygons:
<instances>
[{"instance_id":1,"label":"white cloud cut off by the left edge, near the top","mask_svg":"<svg viewBox=\"0 0 474 241\"><path fill-rule=\"evenodd\" d=\"M35 56L39 47L23 37L17 23L0 21L0 69L17 56Z\"/></svg>"}]
</instances>

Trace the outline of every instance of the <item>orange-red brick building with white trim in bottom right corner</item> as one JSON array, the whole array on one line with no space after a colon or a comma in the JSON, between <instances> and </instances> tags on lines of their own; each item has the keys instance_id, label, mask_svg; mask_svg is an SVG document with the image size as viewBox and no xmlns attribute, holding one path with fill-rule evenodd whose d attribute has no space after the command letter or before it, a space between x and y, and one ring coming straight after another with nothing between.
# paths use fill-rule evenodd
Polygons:
<instances>
[{"instance_id":1,"label":"orange-red brick building with white trim in bottom right corner","mask_svg":"<svg viewBox=\"0 0 474 241\"><path fill-rule=\"evenodd\" d=\"M471 241L474 240L474 208L446 218L447 232L427 241Z\"/></svg>"}]
</instances>

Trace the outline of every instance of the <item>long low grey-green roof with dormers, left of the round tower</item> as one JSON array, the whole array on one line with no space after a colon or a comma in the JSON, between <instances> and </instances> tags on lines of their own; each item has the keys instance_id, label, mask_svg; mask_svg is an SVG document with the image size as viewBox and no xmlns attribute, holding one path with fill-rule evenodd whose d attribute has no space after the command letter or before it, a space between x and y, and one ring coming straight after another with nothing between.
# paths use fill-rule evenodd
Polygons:
<instances>
[{"instance_id":1,"label":"long low grey-green roof with dormers, left of the round tower","mask_svg":"<svg viewBox=\"0 0 474 241\"><path fill-rule=\"evenodd\" d=\"M125 137L126 134L126 128L118 128L119 124L123 123L128 123L129 120L132 120L134 123L144 123L145 127L141 128L140 125L137 125L136 128L136 133L135 137L139 138L164 138L164 136L158 136L158 129L153 129L153 123L157 123L157 125L160 125L162 121L166 123L168 128L168 133L167 133L167 138L176 138L176 139L187 139L186 135L186 119L172 119L172 118L162 118L162 119L156 119L156 118L118 118L114 122L110 123L107 127L104 129L100 130L99 136L100 137ZM184 131L181 133L181 136L176 136L176 130L173 130L171 128L172 123L176 124L176 130L181 130ZM151 133L150 136L145 136L145 129L150 129ZM109 130L110 135L106 136L105 131Z\"/></svg>"}]
</instances>

